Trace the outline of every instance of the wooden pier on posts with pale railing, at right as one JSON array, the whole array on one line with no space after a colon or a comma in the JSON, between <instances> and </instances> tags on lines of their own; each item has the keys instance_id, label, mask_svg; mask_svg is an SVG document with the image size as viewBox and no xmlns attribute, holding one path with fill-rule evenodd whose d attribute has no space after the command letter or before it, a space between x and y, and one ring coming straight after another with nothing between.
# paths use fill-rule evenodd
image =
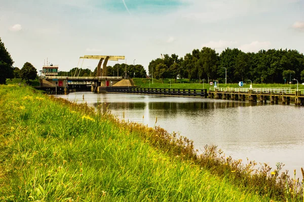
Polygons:
<instances>
[{"instance_id":1,"label":"wooden pier on posts with pale railing, at right","mask_svg":"<svg viewBox=\"0 0 304 202\"><path fill-rule=\"evenodd\" d=\"M210 88L208 97L231 100L249 100L278 104L304 105L304 90L291 88Z\"/></svg>"}]
</instances>

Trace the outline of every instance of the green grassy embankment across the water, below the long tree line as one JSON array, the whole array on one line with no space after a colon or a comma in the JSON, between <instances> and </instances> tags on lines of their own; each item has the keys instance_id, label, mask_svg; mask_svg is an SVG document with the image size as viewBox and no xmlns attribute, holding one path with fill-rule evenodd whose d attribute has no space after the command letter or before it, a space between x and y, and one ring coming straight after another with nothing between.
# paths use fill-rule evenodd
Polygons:
<instances>
[{"instance_id":1,"label":"green grassy embankment across the water, below the long tree line","mask_svg":"<svg viewBox=\"0 0 304 202\"><path fill-rule=\"evenodd\" d=\"M150 80L150 82L149 82ZM162 83L162 80L153 79L141 79L141 78L134 78L133 81L136 86L145 87L148 88L149 86L151 88L170 88L170 80L171 80L171 88L203 88L203 83L189 83L188 79L177 79L177 82L175 83L174 79L165 79L164 83ZM149 84L150 83L150 84ZM253 88L292 88L296 89L296 82L295 84L252 84ZM212 85L209 85L209 83L204 83L204 88L209 90L210 87L214 87ZM219 83L219 87L227 87L227 88L239 88L240 86L237 83L228 83L223 84ZM250 81L247 81L247 83L243 86L243 88L249 88L250 87ZM298 89L304 89L304 85L298 84Z\"/></svg>"}]
</instances>

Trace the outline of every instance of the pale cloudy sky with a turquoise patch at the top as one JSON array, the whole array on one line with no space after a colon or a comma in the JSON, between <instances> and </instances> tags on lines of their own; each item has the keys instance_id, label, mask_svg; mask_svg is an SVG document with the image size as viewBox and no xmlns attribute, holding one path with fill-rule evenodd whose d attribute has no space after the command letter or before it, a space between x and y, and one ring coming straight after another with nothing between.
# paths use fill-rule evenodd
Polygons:
<instances>
[{"instance_id":1,"label":"pale cloudy sky with a turquoise patch at the top","mask_svg":"<svg viewBox=\"0 0 304 202\"><path fill-rule=\"evenodd\" d=\"M0 0L0 37L15 67L38 71L47 61L93 71L98 61L84 55L125 56L120 64L147 70L161 54L204 46L304 53L304 0Z\"/></svg>"}]
</instances>

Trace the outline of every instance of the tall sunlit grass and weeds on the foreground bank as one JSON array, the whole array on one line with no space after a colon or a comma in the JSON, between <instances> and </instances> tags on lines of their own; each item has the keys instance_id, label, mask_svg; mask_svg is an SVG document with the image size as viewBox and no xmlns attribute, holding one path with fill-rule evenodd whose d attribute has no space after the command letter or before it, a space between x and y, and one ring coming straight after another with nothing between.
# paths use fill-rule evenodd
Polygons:
<instances>
[{"instance_id":1,"label":"tall sunlit grass and weeds on the foreground bank","mask_svg":"<svg viewBox=\"0 0 304 202\"><path fill-rule=\"evenodd\" d=\"M0 97L1 200L302 200L302 181L282 164L255 168L213 145L199 155L191 140L118 120L103 104L18 85L0 86Z\"/></svg>"}]
</instances>

